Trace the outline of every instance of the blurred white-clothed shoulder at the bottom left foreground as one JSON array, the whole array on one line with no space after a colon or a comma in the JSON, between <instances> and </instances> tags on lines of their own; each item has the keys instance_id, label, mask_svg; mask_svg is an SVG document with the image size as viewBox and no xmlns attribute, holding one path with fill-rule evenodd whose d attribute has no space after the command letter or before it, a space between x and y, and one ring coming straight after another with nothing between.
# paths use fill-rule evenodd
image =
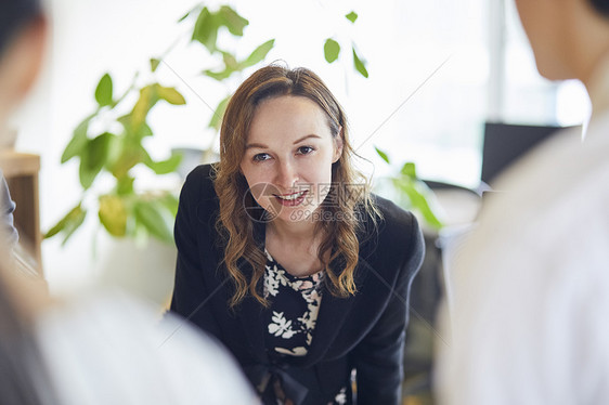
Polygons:
<instances>
[{"instance_id":1,"label":"blurred white-clothed shoulder at the bottom left foreground","mask_svg":"<svg viewBox=\"0 0 609 405\"><path fill-rule=\"evenodd\" d=\"M249 404L236 363L186 321L104 291L43 313L37 339L64 404Z\"/></svg>"}]
</instances>

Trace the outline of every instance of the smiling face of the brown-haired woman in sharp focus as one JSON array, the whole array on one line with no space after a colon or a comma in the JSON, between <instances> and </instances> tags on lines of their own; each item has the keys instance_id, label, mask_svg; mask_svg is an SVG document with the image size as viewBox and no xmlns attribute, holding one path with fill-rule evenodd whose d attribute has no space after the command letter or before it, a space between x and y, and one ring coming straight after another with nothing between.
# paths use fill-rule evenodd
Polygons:
<instances>
[{"instance_id":1,"label":"smiling face of the brown-haired woman in sharp focus","mask_svg":"<svg viewBox=\"0 0 609 405\"><path fill-rule=\"evenodd\" d=\"M284 95L258 105L241 170L272 219L300 222L326 198L332 164L341 153L323 109L307 97Z\"/></svg>"}]
</instances>

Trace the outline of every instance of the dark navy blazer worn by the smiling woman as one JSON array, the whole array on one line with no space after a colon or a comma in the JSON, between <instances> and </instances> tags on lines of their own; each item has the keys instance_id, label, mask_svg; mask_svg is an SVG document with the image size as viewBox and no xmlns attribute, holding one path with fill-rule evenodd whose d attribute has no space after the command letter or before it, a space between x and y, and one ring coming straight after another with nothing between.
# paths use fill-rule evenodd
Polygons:
<instances>
[{"instance_id":1,"label":"dark navy blazer worn by the smiling woman","mask_svg":"<svg viewBox=\"0 0 609 405\"><path fill-rule=\"evenodd\" d=\"M337 298L325 290L308 354L276 364L264 347L267 325L260 319L265 309L249 296L236 309L229 309L233 286L219 266L223 257L216 231L219 203L210 168L194 169L180 195L171 311L224 343L255 387L274 373L288 395L303 395L296 403L326 404L341 387L349 387L355 368L358 404L401 403L410 286L424 256L414 215L375 197L384 219L375 233L360 239L358 292ZM264 224L256 223L256 227L263 244ZM249 265L242 270L250 276Z\"/></svg>"}]
</instances>

